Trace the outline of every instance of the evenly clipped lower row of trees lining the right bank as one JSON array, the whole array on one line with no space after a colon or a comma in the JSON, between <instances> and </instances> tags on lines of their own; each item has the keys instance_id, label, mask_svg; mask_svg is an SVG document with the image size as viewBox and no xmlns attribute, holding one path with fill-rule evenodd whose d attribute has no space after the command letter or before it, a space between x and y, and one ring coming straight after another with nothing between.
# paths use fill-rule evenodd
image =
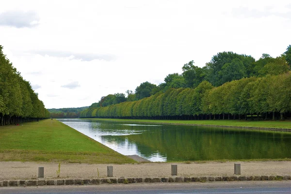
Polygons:
<instances>
[{"instance_id":1,"label":"evenly clipped lower row of trees lining the right bank","mask_svg":"<svg viewBox=\"0 0 291 194\"><path fill-rule=\"evenodd\" d=\"M131 119L264 119L290 117L291 71L249 77L214 87L202 81L196 88L170 88L138 101L89 107L86 118ZM231 118L230 118L231 117Z\"/></svg>"}]
</instances>

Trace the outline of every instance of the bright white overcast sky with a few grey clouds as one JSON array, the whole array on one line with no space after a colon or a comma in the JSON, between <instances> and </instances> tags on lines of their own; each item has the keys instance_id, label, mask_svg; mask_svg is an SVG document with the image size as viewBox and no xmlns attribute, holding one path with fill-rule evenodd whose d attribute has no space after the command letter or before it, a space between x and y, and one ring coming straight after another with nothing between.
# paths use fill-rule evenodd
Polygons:
<instances>
[{"instance_id":1,"label":"bright white overcast sky with a few grey clouds","mask_svg":"<svg viewBox=\"0 0 291 194\"><path fill-rule=\"evenodd\" d=\"M2 0L0 45L46 108L89 106L203 67L291 44L290 0Z\"/></svg>"}]
</instances>

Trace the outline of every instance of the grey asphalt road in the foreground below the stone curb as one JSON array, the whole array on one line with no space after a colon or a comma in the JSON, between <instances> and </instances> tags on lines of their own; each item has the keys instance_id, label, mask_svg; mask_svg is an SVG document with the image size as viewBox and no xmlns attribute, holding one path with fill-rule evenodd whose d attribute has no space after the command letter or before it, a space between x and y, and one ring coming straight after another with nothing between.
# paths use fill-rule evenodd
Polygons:
<instances>
[{"instance_id":1,"label":"grey asphalt road in the foreground below the stone curb","mask_svg":"<svg viewBox=\"0 0 291 194\"><path fill-rule=\"evenodd\" d=\"M291 181L2 187L0 194L291 194Z\"/></svg>"}]
</instances>

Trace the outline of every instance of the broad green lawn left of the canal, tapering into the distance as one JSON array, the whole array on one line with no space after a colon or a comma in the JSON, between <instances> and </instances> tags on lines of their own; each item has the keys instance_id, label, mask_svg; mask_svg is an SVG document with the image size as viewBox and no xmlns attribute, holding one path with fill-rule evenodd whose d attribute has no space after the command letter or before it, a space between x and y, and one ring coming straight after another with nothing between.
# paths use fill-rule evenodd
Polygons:
<instances>
[{"instance_id":1,"label":"broad green lawn left of the canal, tapering into the distance","mask_svg":"<svg viewBox=\"0 0 291 194\"><path fill-rule=\"evenodd\" d=\"M0 161L134 163L55 119L0 127Z\"/></svg>"}]
</instances>

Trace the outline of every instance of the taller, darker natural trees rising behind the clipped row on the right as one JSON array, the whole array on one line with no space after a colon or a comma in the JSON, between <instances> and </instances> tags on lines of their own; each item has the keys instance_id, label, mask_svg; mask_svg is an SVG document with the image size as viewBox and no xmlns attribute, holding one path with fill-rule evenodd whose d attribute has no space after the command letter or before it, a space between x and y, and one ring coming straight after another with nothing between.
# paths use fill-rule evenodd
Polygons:
<instances>
[{"instance_id":1,"label":"taller, darker natural trees rising behind the clipped row on the right","mask_svg":"<svg viewBox=\"0 0 291 194\"><path fill-rule=\"evenodd\" d=\"M98 103L92 104L90 108L137 101L161 91L165 92L171 88L194 89L203 81L208 81L211 85L218 87L226 82L245 77L279 75L288 72L290 67L291 45L287 47L286 52L277 58L263 54L257 61L247 55L240 55L233 52L220 52L214 55L204 67L195 66L192 60L183 65L182 74L169 74L164 78L164 82L158 86L144 82L136 87L135 92L127 90L126 94L115 93L103 96Z\"/></svg>"}]
</instances>

